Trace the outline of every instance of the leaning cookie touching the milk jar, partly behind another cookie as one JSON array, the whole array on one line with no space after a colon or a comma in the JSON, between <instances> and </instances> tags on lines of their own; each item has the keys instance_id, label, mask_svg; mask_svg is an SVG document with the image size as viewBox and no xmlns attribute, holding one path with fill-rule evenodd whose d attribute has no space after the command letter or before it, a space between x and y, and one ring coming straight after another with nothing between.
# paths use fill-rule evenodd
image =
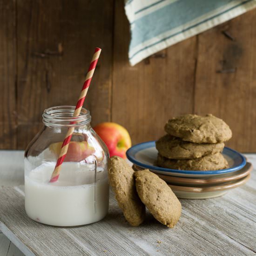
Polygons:
<instances>
[{"instance_id":1,"label":"leaning cookie touching the milk jar, partly behind another cookie","mask_svg":"<svg viewBox=\"0 0 256 256\"><path fill-rule=\"evenodd\" d=\"M134 170L119 156L108 161L108 179L115 198L126 220L132 226L139 226L145 220L145 205L135 188Z\"/></svg>"}]
</instances>

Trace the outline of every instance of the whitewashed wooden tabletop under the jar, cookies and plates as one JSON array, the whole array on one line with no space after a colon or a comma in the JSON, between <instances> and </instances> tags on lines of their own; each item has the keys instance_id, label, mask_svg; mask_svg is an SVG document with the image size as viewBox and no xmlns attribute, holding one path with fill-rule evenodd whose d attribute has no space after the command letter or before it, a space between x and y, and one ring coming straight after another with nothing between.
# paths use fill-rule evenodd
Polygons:
<instances>
[{"instance_id":1,"label":"whitewashed wooden tabletop under the jar, cookies and plates","mask_svg":"<svg viewBox=\"0 0 256 256\"><path fill-rule=\"evenodd\" d=\"M246 156L256 166L256 155ZM112 193L108 216L100 222L77 228L42 225L25 215L23 182L23 152L0 151L0 256L256 255L255 169L248 183L222 197L181 200L174 229L149 214L140 227L129 226Z\"/></svg>"}]
</instances>

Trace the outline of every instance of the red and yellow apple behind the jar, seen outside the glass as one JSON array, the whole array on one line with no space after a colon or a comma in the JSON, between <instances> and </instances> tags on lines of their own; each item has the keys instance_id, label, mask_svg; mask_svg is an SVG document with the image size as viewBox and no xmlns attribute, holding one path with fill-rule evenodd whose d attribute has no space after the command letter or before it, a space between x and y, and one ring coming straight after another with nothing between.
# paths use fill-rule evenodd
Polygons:
<instances>
[{"instance_id":1,"label":"red and yellow apple behind the jar, seen outside the glass","mask_svg":"<svg viewBox=\"0 0 256 256\"><path fill-rule=\"evenodd\" d=\"M113 122L96 125L94 131L101 137L108 147L110 157L118 155L126 158L126 151L131 147L131 137L126 128Z\"/></svg>"}]
</instances>

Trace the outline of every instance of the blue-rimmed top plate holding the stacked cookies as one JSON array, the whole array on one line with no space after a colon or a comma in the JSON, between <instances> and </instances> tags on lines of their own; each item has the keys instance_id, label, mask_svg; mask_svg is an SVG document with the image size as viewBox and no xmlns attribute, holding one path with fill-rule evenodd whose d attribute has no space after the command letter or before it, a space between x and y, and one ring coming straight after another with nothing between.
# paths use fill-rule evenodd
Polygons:
<instances>
[{"instance_id":1,"label":"blue-rimmed top plate holding the stacked cookies","mask_svg":"<svg viewBox=\"0 0 256 256\"><path fill-rule=\"evenodd\" d=\"M246 164L246 159L242 154L228 147L225 147L223 149L222 154L227 159L229 163L229 168L212 171L189 171L158 167L154 165L157 154L158 151L155 148L155 141L147 141L137 144L129 148L126 152L128 160L130 160L137 166L150 169L155 173L180 177L209 177L214 175L231 173L242 169Z\"/></svg>"}]
</instances>

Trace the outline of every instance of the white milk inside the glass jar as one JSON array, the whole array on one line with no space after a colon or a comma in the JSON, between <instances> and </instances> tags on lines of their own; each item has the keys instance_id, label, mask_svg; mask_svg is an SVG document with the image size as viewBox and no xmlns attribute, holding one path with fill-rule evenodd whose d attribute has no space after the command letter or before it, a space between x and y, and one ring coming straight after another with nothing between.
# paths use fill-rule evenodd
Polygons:
<instances>
[{"instance_id":1,"label":"white milk inside the glass jar","mask_svg":"<svg viewBox=\"0 0 256 256\"><path fill-rule=\"evenodd\" d=\"M54 226L78 226L97 222L108 212L108 177L78 163L61 166L57 182L49 183L54 164L25 170L25 209L35 221Z\"/></svg>"}]
</instances>

